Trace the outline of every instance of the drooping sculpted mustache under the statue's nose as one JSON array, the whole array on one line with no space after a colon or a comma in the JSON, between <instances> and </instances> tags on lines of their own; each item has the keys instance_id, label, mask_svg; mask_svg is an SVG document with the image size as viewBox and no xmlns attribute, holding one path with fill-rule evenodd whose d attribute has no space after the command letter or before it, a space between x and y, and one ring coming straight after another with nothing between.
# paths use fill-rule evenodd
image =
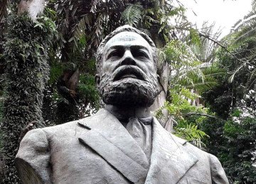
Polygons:
<instances>
[{"instance_id":1,"label":"drooping sculpted mustache under the statue's nose","mask_svg":"<svg viewBox=\"0 0 256 184\"><path fill-rule=\"evenodd\" d=\"M146 80L146 74L139 67L133 65L123 65L117 67L117 69L114 70L112 75L114 76L113 80L119 80L120 77L127 74L135 75L136 77L138 77L139 80Z\"/></svg>"}]
</instances>

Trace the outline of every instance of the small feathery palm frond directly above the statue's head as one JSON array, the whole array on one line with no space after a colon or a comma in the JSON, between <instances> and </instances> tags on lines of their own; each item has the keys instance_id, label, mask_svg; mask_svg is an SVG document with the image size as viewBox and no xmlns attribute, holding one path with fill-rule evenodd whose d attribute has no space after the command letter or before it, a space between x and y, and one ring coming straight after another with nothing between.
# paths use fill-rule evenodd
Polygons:
<instances>
[{"instance_id":1,"label":"small feathery palm frond directly above the statue's head","mask_svg":"<svg viewBox=\"0 0 256 184\"><path fill-rule=\"evenodd\" d=\"M129 26L137 27L139 22L142 20L142 5L128 4L127 8L122 12L122 20Z\"/></svg>"}]
</instances>

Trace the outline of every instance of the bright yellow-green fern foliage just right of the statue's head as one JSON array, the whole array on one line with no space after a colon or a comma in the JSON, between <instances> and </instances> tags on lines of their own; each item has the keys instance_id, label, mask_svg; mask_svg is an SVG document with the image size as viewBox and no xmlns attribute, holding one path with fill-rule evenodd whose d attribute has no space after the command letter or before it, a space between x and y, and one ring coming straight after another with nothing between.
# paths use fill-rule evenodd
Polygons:
<instances>
[{"instance_id":1,"label":"bright yellow-green fern foliage just right of the statue's head","mask_svg":"<svg viewBox=\"0 0 256 184\"><path fill-rule=\"evenodd\" d=\"M213 43L200 38L193 28L189 29L184 40L167 43L164 54L171 67L171 89L166 99L168 102L160 110L167 109L177 122L174 134L199 148L205 147L203 140L207 140L208 135L201 126L206 119L215 117L201 105L200 94L218 86L216 77L222 78L225 70L209 63L215 58Z\"/></svg>"}]
</instances>

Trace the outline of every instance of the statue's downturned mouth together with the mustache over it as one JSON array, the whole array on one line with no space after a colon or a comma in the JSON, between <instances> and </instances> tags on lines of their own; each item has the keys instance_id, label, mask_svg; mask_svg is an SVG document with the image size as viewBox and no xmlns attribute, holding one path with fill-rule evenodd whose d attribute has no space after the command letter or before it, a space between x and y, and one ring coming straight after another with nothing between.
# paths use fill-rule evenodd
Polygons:
<instances>
[{"instance_id":1,"label":"statue's downturned mouth together with the mustache over it","mask_svg":"<svg viewBox=\"0 0 256 184\"><path fill-rule=\"evenodd\" d=\"M114 71L113 81L122 80L124 78L134 78L137 80L145 80L144 73L135 66L122 66Z\"/></svg>"}]
</instances>

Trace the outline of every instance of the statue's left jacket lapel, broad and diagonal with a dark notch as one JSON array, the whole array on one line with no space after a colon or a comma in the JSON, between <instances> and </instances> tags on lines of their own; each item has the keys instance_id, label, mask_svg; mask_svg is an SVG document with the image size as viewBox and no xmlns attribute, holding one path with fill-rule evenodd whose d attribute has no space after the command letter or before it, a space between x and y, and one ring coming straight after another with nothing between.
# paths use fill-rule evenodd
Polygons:
<instances>
[{"instance_id":1,"label":"statue's left jacket lapel, broad and diagonal with a dark notch","mask_svg":"<svg viewBox=\"0 0 256 184\"><path fill-rule=\"evenodd\" d=\"M79 141L95 150L132 183L146 179L149 168L145 153L127 129L110 112L101 109L89 121L80 121L88 129Z\"/></svg>"}]
</instances>

